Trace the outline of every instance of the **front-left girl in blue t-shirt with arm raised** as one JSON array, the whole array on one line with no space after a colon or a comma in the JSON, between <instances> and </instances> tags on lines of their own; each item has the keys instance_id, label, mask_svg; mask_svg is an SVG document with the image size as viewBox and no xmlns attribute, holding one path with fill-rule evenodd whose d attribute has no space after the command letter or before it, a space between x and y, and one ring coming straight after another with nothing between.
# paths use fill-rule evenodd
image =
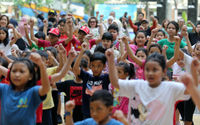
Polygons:
<instances>
[{"instance_id":1,"label":"front-left girl in blue t-shirt with arm raised","mask_svg":"<svg viewBox=\"0 0 200 125\"><path fill-rule=\"evenodd\" d=\"M32 53L30 59L40 68L42 84L35 86L37 79L30 60L18 59L12 64L8 77L10 85L0 85L2 125L36 123L36 109L45 99L50 84L42 58Z\"/></svg>"}]
</instances>

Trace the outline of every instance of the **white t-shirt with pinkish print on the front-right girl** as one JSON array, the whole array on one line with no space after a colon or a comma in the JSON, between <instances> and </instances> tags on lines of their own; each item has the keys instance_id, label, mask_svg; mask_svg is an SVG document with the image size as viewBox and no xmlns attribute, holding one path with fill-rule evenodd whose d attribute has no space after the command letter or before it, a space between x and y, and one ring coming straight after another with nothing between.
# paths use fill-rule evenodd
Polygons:
<instances>
[{"instance_id":1,"label":"white t-shirt with pinkish print on the front-right girl","mask_svg":"<svg viewBox=\"0 0 200 125\"><path fill-rule=\"evenodd\" d=\"M163 81L152 88L144 80L119 80L119 87L120 96L134 100L130 102L133 125L173 125L176 101L189 99L178 82Z\"/></svg>"}]
</instances>

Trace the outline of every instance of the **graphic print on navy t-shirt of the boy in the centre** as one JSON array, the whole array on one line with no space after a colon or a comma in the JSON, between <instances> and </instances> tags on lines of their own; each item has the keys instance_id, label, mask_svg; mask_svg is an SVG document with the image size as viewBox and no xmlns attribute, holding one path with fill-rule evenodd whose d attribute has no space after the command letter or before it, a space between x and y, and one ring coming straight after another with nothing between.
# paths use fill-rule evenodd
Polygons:
<instances>
[{"instance_id":1,"label":"graphic print on navy t-shirt of the boy in the centre","mask_svg":"<svg viewBox=\"0 0 200 125\"><path fill-rule=\"evenodd\" d=\"M95 91L102 89L102 83L103 83L102 80L99 80L99 81L88 81L86 83L87 88L86 88L85 93L87 95L92 96Z\"/></svg>"}]
</instances>

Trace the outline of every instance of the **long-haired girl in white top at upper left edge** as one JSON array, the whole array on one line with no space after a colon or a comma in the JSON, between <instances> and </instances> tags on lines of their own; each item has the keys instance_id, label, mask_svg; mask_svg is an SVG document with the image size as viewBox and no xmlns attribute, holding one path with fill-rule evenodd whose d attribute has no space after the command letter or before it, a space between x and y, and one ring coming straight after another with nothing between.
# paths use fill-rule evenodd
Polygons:
<instances>
[{"instance_id":1,"label":"long-haired girl in white top at upper left edge","mask_svg":"<svg viewBox=\"0 0 200 125\"><path fill-rule=\"evenodd\" d=\"M4 51L5 55L11 55L11 49L17 47L15 42L16 39L9 40L8 30L5 27L0 27L0 50Z\"/></svg>"}]
</instances>

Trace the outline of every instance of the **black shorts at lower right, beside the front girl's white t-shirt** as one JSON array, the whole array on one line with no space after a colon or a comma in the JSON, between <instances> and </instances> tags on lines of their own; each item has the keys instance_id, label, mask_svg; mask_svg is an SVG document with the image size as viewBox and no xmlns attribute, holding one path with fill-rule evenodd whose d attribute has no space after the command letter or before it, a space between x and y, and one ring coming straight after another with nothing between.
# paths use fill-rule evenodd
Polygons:
<instances>
[{"instance_id":1,"label":"black shorts at lower right, beside the front girl's white t-shirt","mask_svg":"<svg viewBox=\"0 0 200 125\"><path fill-rule=\"evenodd\" d=\"M191 98L187 101L179 102L177 108L181 114L182 121L192 122L195 104Z\"/></svg>"}]
</instances>

